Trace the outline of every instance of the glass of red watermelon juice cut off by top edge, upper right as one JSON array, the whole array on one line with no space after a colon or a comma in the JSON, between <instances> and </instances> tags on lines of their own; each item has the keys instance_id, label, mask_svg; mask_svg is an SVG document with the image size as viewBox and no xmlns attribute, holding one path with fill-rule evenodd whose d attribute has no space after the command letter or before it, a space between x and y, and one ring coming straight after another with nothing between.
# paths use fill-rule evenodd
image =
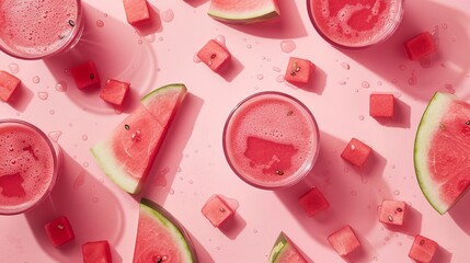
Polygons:
<instances>
[{"instance_id":1,"label":"glass of red watermelon juice cut off by top edge, upper right","mask_svg":"<svg viewBox=\"0 0 470 263\"><path fill-rule=\"evenodd\" d=\"M320 36L347 49L385 42L403 18L403 0L307 0L307 9Z\"/></svg>"}]
</instances>

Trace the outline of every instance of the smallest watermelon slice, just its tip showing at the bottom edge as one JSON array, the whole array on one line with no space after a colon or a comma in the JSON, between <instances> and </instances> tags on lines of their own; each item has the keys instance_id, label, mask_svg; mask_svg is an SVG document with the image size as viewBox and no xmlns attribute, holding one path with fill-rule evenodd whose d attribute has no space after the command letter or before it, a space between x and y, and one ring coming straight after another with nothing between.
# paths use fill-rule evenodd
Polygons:
<instances>
[{"instance_id":1,"label":"smallest watermelon slice, just its tip showing at the bottom edge","mask_svg":"<svg viewBox=\"0 0 470 263\"><path fill-rule=\"evenodd\" d=\"M307 263L294 242L280 232L270 254L270 263Z\"/></svg>"}]
</instances>

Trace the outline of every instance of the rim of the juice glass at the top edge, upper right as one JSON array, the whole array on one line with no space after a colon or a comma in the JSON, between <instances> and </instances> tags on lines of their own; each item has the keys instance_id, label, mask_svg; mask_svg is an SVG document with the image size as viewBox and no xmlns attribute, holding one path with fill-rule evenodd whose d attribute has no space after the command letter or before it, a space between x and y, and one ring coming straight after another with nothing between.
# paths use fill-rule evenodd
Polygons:
<instances>
[{"instance_id":1,"label":"rim of the juice glass at the top edge, upper right","mask_svg":"<svg viewBox=\"0 0 470 263\"><path fill-rule=\"evenodd\" d=\"M332 46L342 48L342 49L348 49L348 50L362 50L362 49L366 49L368 47L381 44L383 42L386 42L388 38L390 38L393 33L397 31L397 28L399 27L402 19L403 19L403 13L404 13L404 8L403 8L403 2L404 0L397 0L398 2L398 13L397 15L393 18L393 24L392 26L389 26L388 30L383 31L380 34L380 37L377 37L377 39L375 39L374 42L369 42L366 43L364 45L346 45L344 43L339 43L333 41L331 37L329 37L325 33L323 33L323 31L320 28L320 26L317 24L317 21L312 14L312 5L311 2L313 0L307 0L307 13L309 14L309 19L311 24L313 25L314 30L317 31L317 33L328 43L330 43Z\"/></svg>"}]
</instances>

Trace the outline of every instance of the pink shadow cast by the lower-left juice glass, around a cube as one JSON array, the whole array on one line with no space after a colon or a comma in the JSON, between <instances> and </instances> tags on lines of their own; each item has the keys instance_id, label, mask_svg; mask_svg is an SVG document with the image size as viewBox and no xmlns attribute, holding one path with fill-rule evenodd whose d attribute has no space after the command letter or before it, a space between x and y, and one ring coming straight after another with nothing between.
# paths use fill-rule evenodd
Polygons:
<instances>
[{"instance_id":1,"label":"pink shadow cast by the lower-left juice glass, around a cube","mask_svg":"<svg viewBox=\"0 0 470 263\"><path fill-rule=\"evenodd\" d=\"M27 211L25 217L37 243L51 259L57 262L81 262L81 245L84 242L107 240L111 247L119 242L125 225L124 214L116 197L102 182L62 153L61 173L49 198ZM67 216L76 239L54 248L44 231L44 225L58 216Z\"/></svg>"}]
</instances>

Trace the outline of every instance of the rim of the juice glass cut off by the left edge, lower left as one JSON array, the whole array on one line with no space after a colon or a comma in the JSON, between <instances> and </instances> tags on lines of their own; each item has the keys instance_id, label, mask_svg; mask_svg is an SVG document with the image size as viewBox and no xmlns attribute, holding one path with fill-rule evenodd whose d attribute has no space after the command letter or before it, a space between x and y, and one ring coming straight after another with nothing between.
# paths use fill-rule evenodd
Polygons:
<instances>
[{"instance_id":1,"label":"rim of the juice glass cut off by the left edge, lower left","mask_svg":"<svg viewBox=\"0 0 470 263\"><path fill-rule=\"evenodd\" d=\"M11 216L11 215L23 214L23 213L34 208L38 204L43 203L44 199L47 198L47 196L53 191L53 188L56 184L57 176L59 173L59 156L58 156L58 152L56 150L57 148L54 146L53 141L37 126L35 126L35 125L33 125L26 121L16 119L16 118L2 118L2 119L0 119L0 126L5 125L5 124L7 125L13 124L13 125L25 126L25 127L32 129L34 133L36 133L37 136L39 136L42 139L44 139L44 141L47 144L48 148L50 149L50 152L53 155L53 162L54 162L53 175L51 175L50 183L47 186L47 190L44 191L44 193L42 194L42 196L39 198L37 198L35 201L31 201L31 202L25 203L25 204L21 204L18 206L18 208L14 208L14 209L9 209L9 208L5 209L5 208L0 207L0 215Z\"/></svg>"}]
</instances>

